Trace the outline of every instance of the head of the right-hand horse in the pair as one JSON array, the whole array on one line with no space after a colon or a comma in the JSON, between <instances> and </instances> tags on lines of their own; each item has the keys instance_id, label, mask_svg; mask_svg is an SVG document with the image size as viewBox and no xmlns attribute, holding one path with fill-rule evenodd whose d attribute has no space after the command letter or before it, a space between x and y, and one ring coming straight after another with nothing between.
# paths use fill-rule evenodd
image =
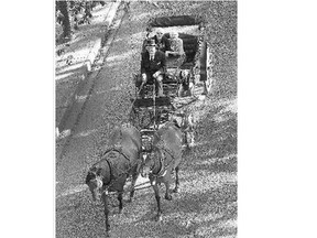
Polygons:
<instances>
[{"instance_id":1,"label":"head of the right-hand horse in the pair","mask_svg":"<svg viewBox=\"0 0 317 238\"><path fill-rule=\"evenodd\" d=\"M141 175L143 177L149 177L150 174L157 173L161 169L160 161L163 160L163 156L164 153L156 147L153 147L151 152L144 153L141 164Z\"/></svg>"}]
</instances>

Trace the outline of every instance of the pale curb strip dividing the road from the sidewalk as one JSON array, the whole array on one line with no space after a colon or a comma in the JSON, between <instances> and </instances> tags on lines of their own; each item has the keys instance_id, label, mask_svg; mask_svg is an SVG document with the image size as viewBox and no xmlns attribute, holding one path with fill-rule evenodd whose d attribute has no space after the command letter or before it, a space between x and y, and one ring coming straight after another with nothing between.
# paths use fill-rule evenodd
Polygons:
<instances>
[{"instance_id":1,"label":"pale curb strip dividing the road from the sidewalk","mask_svg":"<svg viewBox=\"0 0 317 238\"><path fill-rule=\"evenodd\" d=\"M69 117L72 117L70 113L72 113L73 105L76 102L76 100L81 101L83 99L83 96L80 96L79 93L87 83L87 78L89 77L89 74L91 73L94 62L98 57L100 48L102 48L102 44L106 43L108 29L113 22L113 19L117 14L120 3L121 1L111 2L111 7L109 8L107 17L105 18L105 24L100 26L100 29L105 28L105 34L102 34L100 39L96 40L94 46L90 48L90 52L85 63L83 64L81 67L79 67L79 71L83 71L83 73L79 75L81 79L76 86L74 94L70 96L68 107L64 111L63 116L61 117L58 125L55 125L55 139L56 140L58 140L58 138L62 136L65 137L69 134L69 131L64 131L64 129L65 129L65 126L67 125L67 120L69 120L70 119Z\"/></svg>"}]
</instances>

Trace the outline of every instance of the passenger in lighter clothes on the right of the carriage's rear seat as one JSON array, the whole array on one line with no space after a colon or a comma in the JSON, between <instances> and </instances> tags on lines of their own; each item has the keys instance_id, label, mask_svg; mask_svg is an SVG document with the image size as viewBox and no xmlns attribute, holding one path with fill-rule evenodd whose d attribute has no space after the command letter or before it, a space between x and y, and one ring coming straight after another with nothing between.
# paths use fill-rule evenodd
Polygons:
<instances>
[{"instance_id":1,"label":"passenger in lighter clothes on the right of the carriage's rear seat","mask_svg":"<svg viewBox=\"0 0 317 238\"><path fill-rule=\"evenodd\" d=\"M167 56L168 60L168 66L179 67L186 58L186 54L183 46L183 40L178 37L177 32L171 32L170 43L172 51L165 52L165 55Z\"/></svg>"}]
</instances>

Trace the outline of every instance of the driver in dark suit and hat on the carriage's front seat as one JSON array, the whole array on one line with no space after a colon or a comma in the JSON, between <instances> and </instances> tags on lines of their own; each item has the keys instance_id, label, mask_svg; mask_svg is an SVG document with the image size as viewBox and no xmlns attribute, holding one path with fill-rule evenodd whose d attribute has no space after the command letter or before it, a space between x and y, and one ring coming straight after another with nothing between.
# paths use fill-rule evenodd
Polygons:
<instances>
[{"instance_id":1,"label":"driver in dark suit and hat on the carriage's front seat","mask_svg":"<svg viewBox=\"0 0 317 238\"><path fill-rule=\"evenodd\" d=\"M155 82L157 96L163 97L163 75L166 67L165 54L156 50L155 41L149 40L146 43L146 52L142 53L141 60L141 78L136 79L136 87L146 83ZM143 97L144 90L141 89L140 96Z\"/></svg>"}]
</instances>

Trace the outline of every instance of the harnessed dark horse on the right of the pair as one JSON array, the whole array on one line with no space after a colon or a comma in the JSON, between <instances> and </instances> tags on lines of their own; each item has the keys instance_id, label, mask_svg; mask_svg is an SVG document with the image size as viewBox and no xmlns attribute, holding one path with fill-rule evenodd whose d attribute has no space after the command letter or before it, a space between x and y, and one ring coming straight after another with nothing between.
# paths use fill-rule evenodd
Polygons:
<instances>
[{"instance_id":1,"label":"harnessed dark horse on the right of the pair","mask_svg":"<svg viewBox=\"0 0 317 238\"><path fill-rule=\"evenodd\" d=\"M164 183L166 187L165 199L171 201L170 183L172 171L175 170L176 181L174 193L178 192L178 170L182 161L182 131L174 123L168 121L154 133L152 151L142 162L141 175L149 176L157 202L156 220L161 220L161 204L158 184Z\"/></svg>"}]
</instances>

